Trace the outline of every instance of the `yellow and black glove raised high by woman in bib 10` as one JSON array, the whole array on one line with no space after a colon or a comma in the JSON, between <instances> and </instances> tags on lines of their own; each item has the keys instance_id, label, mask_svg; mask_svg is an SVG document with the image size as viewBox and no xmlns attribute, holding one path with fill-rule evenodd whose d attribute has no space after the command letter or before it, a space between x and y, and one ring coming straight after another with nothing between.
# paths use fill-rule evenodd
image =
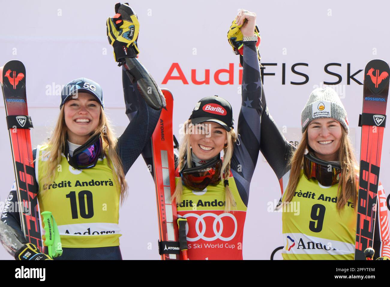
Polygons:
<instances>
[{"instance_id":1,"label":"yellow and black glove raised high by woman in bib 10","mask_svg":"<svg viewBox=\"0 0 390 287\"><path fill-rule=\"evenodd\" d=\"M140 23L128 3L115 4L115 16L107 19L108 42L114 48L115 61L136 58L140 52L137 46Z\"/></svg>"}]
</instances>

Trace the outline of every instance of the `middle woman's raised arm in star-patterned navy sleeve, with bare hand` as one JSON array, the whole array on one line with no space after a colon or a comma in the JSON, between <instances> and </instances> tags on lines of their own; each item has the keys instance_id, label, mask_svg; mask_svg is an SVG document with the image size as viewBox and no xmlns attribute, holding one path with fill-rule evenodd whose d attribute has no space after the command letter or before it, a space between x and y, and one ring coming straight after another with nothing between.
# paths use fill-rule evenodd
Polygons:
<instances>
[{"instance_id":1,"label":"middle woman's raised arm in star-patterned navy sleeve, with bare hand","mask_svg":"<svg viewBox=\"0 0 390 287\"><path fill-rule=\"evenodd\" d=\"M243 39L242 100L237 123L237 141L230 169L236 180L241 199L246 205L248 204L250 181L259 157L261 139L262 83L256 47L258 38L254 37L255 21L256 14L241 10L236 18L236 23L230 26L228 33L229 38L229 34L235 31L229 39L230 44L232 44L232 37L235 38L235 43L237 43L237 39ZM246 39L246 37L251 38Z\"/></svg>"}]
</instances>

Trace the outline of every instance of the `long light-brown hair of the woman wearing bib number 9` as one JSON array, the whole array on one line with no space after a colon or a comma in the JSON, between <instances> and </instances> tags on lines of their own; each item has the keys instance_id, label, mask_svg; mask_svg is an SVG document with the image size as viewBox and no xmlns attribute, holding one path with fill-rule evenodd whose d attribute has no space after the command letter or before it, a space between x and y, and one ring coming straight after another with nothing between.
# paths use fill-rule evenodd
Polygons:
<instances>
[{"instance_id":1,"label":"long light-brown hair of the woman wearing bib number 9","mask_svg":"<svg viewBox=\"0 0 390 287\"><path fill-rule=\"evenodd\" d=\"M346 129L341 126L342 135L340 139L340 148L338 151L338 157L341 165L341 176L339 185L337 187L337 211L341 211L347 204L349 199L352 199L353 206L356 208L357 201L357 186L356 186L356 159L353 153L352 144L349 141L349 137ZM314 152L310 148L307 139L307 129L302 134L301 143L298 148L294 151L293 156L290 160L290 178L287 187L287 194L285 201L289 202L293 199L294 192L298 186L298 182L301 178L301 170L303 167L303 155L305 151ZM302 175L304 176L304 175Z\"/></svg>"}]
</instances>

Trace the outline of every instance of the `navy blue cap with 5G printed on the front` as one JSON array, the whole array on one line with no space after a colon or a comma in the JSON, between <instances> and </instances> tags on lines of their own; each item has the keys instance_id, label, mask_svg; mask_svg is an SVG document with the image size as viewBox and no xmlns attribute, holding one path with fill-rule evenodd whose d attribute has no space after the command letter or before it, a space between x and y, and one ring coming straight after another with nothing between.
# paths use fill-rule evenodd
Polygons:
<instances>
[{"instance_id":1,"label":"navy blue cap with 5G printed on the front","mask_svg":"<svg viewBox=\"0 0 390 287\"><path fill-rule=\"evenodd\" d=\"M101 86L95 81L92 81L87 78L75 79L64 86L61 92L60 108L67 100L69 100L72 96L76 95L76 91L87 92L91 95L94 95L104 109L103 91L101 89Z\"/></svg>"}]
</instances>

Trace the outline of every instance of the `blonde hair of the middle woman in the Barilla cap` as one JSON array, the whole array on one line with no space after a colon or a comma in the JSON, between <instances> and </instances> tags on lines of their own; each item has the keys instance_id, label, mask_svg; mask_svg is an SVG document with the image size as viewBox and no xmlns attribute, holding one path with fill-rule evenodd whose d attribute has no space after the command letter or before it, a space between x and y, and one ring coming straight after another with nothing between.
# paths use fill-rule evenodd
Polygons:
<instances>
[{"instance_id":1,"label":"blonde hair of the middle woman in the Barilla cap","mask_svg":"<svg viewBox=\"0 0 390 287\"><path fill-rule=\"evenodd\" d=\"M183 140L179 146L179 170L184 166L185 159L187 158L187 166L191 167L191 144L190 144L190 132L189 129L193 127L191 120L186 120L183 127ZM236 142L236 132L232 128L230 132L226 132L227 146L223 148L223 162L221 169L221 178L229 180L230 176L230 160L233 156L234 143ZM181 202L181 196L183 195L183 183L181 178L177 181L175 193L173 195L176 202ZM232 207L236 207L234 196L229 188L229 185L225 185L225 212L229 212Z\"/></svg>"}]
</instances>

